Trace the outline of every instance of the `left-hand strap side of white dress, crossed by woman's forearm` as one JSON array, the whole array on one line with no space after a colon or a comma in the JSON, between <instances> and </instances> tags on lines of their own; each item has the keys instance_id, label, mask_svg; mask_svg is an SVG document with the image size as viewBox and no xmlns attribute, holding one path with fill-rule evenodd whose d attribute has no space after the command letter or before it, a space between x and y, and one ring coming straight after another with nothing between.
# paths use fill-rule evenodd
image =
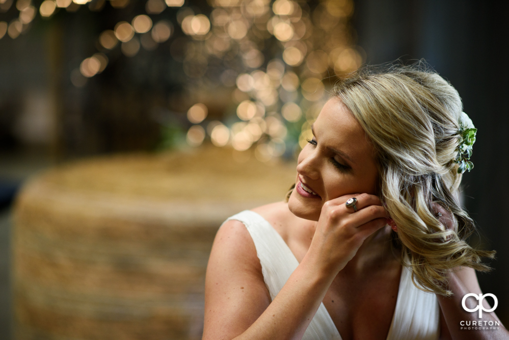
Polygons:
<instances>
[{"instance_id":1,"label":"left-hand strap side of white dress, crossed by woman's forearm","mask_svg":"<svg viewBox=\"0 0 509 340\"><path fill-rule=\"evenodd\" d=\"M291 273L299 266L299 261L280 234L259 214L245 210L233 215L226 221L229 220L244 223L251 234L256 247L256 254L260 259L263 279L267 289L269 289L271 299L274 300ZM341 336L323 303L320 303L302 339L341 340Z\"/></svg>"}]
</instances>

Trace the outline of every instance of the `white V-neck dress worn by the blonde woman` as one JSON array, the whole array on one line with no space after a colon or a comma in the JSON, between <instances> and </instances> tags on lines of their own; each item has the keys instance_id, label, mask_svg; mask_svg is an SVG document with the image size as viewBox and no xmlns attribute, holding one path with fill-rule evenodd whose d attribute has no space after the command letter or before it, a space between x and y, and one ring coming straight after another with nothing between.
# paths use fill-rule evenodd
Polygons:
<instances>
[{"instance_id":1,"label":"white V-neck dress worn by the blonde woman","mask_svg":"<svg viewBox=\"0 0 509 340\"><path fill-rule=\"evenodd\" d=\"M274 300L299 262L279 233L259 214L245 210L226 221L229 220L244 223L251 234L260 259L263 279L271 299ZM417 289L412 283L410 269L403 267L387 340L436 340L440 333L439 318L439 305L435 294ZM341 335L323 303L318 307L302 339L341 340Z\"/></svg>"}]
</instances>

